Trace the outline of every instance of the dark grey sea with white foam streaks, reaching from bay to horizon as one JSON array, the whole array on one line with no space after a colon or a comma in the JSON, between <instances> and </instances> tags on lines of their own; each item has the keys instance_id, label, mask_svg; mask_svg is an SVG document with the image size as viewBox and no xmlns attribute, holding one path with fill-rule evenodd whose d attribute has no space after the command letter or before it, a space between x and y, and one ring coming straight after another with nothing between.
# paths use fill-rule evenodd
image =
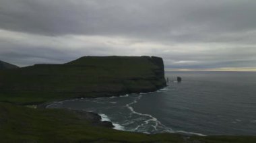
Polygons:
<instances>
[{"instance_id":1,"label":"dark grey sea with white foam streaks, reaching from bay to horizon","mask_svg":"<svg viewBox=\"0 0 256 143\"><path fill-rule=\"evenodd\" d=\"M118 130L201 135L256 135L256 73L166 71L154 93L73 99L48 107L94 111Z\"/></svg>"}]
</instances>

